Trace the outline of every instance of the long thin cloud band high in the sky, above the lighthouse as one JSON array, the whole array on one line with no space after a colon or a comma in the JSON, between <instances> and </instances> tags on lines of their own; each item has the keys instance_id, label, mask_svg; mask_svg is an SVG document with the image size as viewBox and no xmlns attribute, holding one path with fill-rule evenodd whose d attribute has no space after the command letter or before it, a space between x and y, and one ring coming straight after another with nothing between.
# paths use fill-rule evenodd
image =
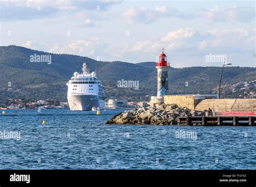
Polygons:
<instances>
[{"instance_id":1,"label":"long thin cloud band high in the sky, above the lighthouse","mask_svg":"<svg viewBox=\"0 0 256 187\"><path fill-rule=\"evenodd\" d=\"M167 6L156 7L156 9L148 9L145 7L131 7L122 13L122 17L127 20L129 24L134 23L152 23L162 17L176 17L180 19L194 19L201 18L208 22L218 21L239 21L247 22L255 18L255 9L251 7L238 7L221 10L218 7L215 9L200 9L197 11L187 12L170 9Z\"/></svg>"}]
</instances>

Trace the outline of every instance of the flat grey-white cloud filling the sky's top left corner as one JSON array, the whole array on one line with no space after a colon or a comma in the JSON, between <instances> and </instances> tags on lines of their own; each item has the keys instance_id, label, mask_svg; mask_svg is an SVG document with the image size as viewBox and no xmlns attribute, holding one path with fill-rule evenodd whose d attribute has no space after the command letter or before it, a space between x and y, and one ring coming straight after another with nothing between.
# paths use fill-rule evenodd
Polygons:
<instances>
[{"instance_id":1,"label":"flat grey-white cloud filling the sky's top left corner","mask_svg":"<svg viewBox=\"0 0 256 187\"><path fill-rule=\"evenodd\" d=\"M111 5L122 3L122 1L80 1L80 0L37 0L37 1L0 1L1 20L38 19L56 16L57 13L65 11L76 13L81 10L108 10Z\"/></svg>"}]
</instances>

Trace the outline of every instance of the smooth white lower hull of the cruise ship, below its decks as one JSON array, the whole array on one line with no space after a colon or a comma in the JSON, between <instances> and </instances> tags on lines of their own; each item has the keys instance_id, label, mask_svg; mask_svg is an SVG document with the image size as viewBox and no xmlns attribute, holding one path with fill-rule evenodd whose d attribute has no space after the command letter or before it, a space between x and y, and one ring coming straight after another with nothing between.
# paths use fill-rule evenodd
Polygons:
<instances>
[{"instance_id":1,"label":"smooth white lower hull of the cruise ship, below its decks","mask_svg":"<svg viewBox=\"0 0 256 187\"><path fill-rule=\"evenodd\" d=\"M92 110L93 106L105 109L105 100L99 99L98 95L68 94L70 110Z\"/></svg>"}]
</instances>

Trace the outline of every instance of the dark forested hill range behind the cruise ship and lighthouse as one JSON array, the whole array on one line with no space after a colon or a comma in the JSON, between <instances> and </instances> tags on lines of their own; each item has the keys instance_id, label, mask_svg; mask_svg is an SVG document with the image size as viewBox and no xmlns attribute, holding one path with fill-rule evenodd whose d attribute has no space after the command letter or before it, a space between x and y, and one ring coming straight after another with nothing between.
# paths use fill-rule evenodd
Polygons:
<instances>
[{"instance_id":1,"label":"dark forested hill range behind the cruise ship and lighthouse","mask_svg":"<svg viewBox=\"0 0 256 187\"><path fill-rule=\"evenodd\" d=\"M34 54L51 55L51 64L30 62L30 55ZM150 96L156 95L157 69L154 62L103 62L77 55L46 53L19 46L1 46L0 99L66 101L66 82L75 71L80 71L83 62L92 70L96 70L97 76L105 85L107 98L149 100ZM220 71L221 67L170 68L170 94L216 93ZM139 89L118 88L117 81L122 79L139 81ZM244 90L240 90L244 83L238 83L254 80L256 68L225 67L221 95L226 98L239 97L244 94ZM8 88L11 89L8 91ZM255 92L255 84L250 83L246 91Z\"/></svg>"}]
</instances>

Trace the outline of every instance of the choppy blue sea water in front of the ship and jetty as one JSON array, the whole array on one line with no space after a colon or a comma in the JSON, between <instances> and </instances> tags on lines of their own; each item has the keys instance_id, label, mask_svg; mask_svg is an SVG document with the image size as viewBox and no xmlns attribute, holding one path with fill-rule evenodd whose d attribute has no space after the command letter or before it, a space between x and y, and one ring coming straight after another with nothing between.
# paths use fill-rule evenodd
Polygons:
<instances>
[{"instance_id":1,"label":"choppy blue sea water in front of the ship and jetty","mask_svg":"<svg viewBox=\"0 0 256 187\"><path fill-rule=\"evenodd\" d=\"M0 169L256 168L255 126L104 125L119 111L1 111L0 132L21 140L2 136Z\"/></svg>"}]
</instances>

